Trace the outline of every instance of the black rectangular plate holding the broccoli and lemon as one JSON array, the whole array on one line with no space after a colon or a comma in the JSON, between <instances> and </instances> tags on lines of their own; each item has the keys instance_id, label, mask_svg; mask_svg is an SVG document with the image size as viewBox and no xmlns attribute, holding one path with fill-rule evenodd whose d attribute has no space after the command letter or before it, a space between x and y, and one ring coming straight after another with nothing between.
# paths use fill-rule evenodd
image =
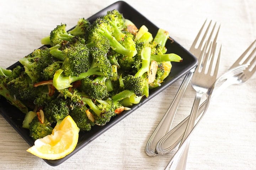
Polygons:
<instances>
[{"instance_id":1,"label":"black rectangular plate holding the broccoli and lemon","mask_svg":"<svg viewBox=\"0 0 256 170\"><path fill-rule=\"evenodd\" d=\"M117 1L114 4L104 8L103 10L97 12L95 15L88 18L90 22L94 21L96 18L105 15L107 11L111 11L117 9L123 16L130 21L132 21L138 28L140 26L145 25L149 32L153 34L153 37L156 35L158 31L158 27L156 27L153 23L151 23L147 18L141 15L137 10L135 10L132 6L128 5L124 1ZM171 37L170 37L171 38ZM172 38L171 38L172 39ZM172 39L173 40L173 39ZM150 90L150 95L148 98L143 98L139 104L136 104L131 107L131 110L124 111L122 114L117 115L112 118L109 123L104 126L94 126L90 132L80 132L79 140L76 148L72 153L67 155L66 157L58 160L44 160L51 166L57 166L63 163L65 160L70 158L73 154L78 152L81 148L85 147L95 138L103 134L106 130L110 129L113 125L117 124L119 121L127 117L130 113L134 112L138 107L142 106L145 102L149 101L155 95L159 94L162 90L166 89L168 86L173 84L187 72L189 72L193 67L197 64L197 59L190 52L184 49L180 44L178 44L175 40L167 40L166 42L167 53L176 53L183 58L183 62L172 62L172 69L170 75L165 79L165 81L161 84L160 87ZM8 69L14 68L19 62L13 64ZM10 125L20 134L24 140L31 146L34 145L33 139L29 136L29 131L27 129L22 128L22 121L25 117L24 113L21 113L17 108L9 104L3 97L0 98L0 113L1 115L10 123Z\"/></svg>"}]
</instances>

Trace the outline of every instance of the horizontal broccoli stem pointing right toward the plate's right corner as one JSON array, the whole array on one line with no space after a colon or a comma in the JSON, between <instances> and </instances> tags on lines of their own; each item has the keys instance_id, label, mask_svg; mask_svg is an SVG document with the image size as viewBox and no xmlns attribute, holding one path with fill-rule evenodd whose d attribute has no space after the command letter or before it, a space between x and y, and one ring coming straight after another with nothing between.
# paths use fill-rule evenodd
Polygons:
<instances>
[{"instance_id":1,"label":"horizontal broccoli stem pointing right toward the plate's right corner","mask_svg":"<svg viewBox=\"0 0 256 170\"><path fill-rule=\"evenodd\" d=\"M181 62L182 58L174 53L159 54L159 55L152 54L150 57L150 61L152 61L152 60L154 60L156 62L162 62L162 61Z\"/></svg>"}]
</instances>

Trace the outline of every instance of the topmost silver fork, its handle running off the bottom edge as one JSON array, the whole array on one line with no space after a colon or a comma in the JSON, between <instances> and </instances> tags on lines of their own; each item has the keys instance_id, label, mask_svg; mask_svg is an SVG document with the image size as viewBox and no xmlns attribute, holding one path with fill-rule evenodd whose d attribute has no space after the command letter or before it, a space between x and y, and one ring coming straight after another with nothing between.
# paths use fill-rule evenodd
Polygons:
<instances>
[{"instance_id":1,"label":"topmost silver fork, its handle running off the bottom edge","mask_svg":"<svg viewBox=\"0 0 256 170\"><path fill-rule=\"evenodd\" d=\"M211 44L209 50L213 51L213 53L212 52L205 53L206 45L204 45L203 52L199 57L198 66L196 67L193 78L191 80L191 86L196 91L196 97L194 99L194 103L191 109L190 118L188 119L188 123L181 141L182 145L179 149L179 152L175 154L174 158L167 165L167 168L175 169L175 170L182 170L182 169L185 170L186 168L187 154L188 154L188 149L190 144L190 140L188 139L188 136L190 135L190 132L194 128L199 102L203 95L207 96L207 104L206 104L206 108L204 109L206 112L210 103L210 96L213 91L214 83L217 80L217 74L218 74L219 63L220 63L221 46L220 46L218 55L215 55L216 49L217 49L217 45L214 45L212 49L212 44ZM183 143L184 141L186 142Z\"/></svg>"}]
</instances>

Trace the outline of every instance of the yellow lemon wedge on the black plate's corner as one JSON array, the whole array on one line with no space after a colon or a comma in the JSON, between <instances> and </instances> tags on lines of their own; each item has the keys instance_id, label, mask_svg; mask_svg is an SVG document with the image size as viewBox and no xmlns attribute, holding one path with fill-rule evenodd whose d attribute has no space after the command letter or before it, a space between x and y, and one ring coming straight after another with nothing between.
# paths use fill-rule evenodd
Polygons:
<instances>
[{"instance_id":1,"label":"yellow lemon wedge on the black plate's corner","mask_svg":"<svg viewBox=\"0 0 256 170\"><path fill-rule=\"evenodd\" d=\"M78 142L79 128L68 115L58 123L51 135L37 139L27 152L42 159L60 159L74 151Z\"/></svg>"}]
</instances>

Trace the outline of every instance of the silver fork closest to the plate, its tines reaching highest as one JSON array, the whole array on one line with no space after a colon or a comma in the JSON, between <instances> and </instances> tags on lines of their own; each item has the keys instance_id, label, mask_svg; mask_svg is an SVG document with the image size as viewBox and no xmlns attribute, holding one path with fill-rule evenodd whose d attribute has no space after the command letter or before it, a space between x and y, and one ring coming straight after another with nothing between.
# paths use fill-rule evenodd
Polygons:
<instances>
[{"instance_id":1,"label":"silver fork closest to the plate, its tines reaching highest","mask_svg":"<svg viewBox=\"0 0 256 170\"><path fill-rule=\"evenodd\" d=\"M203 29L206 26L206 22L207 20L204 22L203 26L201 27L201 29L199 30L191 48L190 48L190 52L198 57L200 55L200 53L202 52L202 48L203 46L206 44L206 46L209 46L209 42L210 40L213 38L214 36L214 31L216 30L216 23L214 24L212 30L210 31L210 26L212 25L212 21L209 22L206 30L203 32ZM210 35L207 37L207 34L210 32ZM217 30L217 32L215 33L215 37L213 40L213 44L216 43L217 40L217 36L219 33L219 28ZM202 39L199 41L199 38ZM197 44L199 43L198 47ZM166 135L166 133L168 131L170 131L171 125L172 125L172 121L175 117L178 105L181 101L181 98L187 88L188 83L190 82L192 75L194 73L194 68L190 70L190 72L188 72L185 75L185 78L183 79L180 88L177 91L176 96L174 97L174 100L172 101L170 107L167 109L164 117L161 119L161 121L159 122L158 126L156 127L156 129L154 130L154 132L152 133L152 135L150 136L146 147L145 147L145 152L146 154L148 154L151 157L154 157L156 155L158 155L158 153L155 151L156 148L156 144L158 143L158 141L164 136Z\"/></svg>"}]
</instances>

